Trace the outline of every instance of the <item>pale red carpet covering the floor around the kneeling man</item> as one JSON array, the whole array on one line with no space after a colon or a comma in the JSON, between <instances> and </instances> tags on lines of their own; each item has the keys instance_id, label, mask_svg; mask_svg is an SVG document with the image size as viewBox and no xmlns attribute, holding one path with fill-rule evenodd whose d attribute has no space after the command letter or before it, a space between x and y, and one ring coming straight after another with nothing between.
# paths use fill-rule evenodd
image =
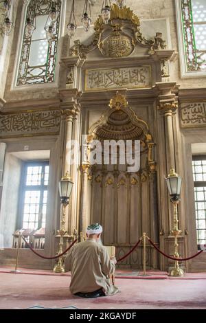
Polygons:
<instances>
[{"instance_id":1,"label":"pale red carpet covering the floor around the kneeling man","mask_svg":"<svg viewBox=\"0 0 206 323\"><path fill-rule=\"evenodd\" d=\"M8 269L7 269L8 270ZM50 273L52 274L52 273ZM116 279L115 296L87 300L71 295L68 274L0 274L0 309L206 309L205 273L187 279ZM193 277L191 279L191 277Z\"/></svg>"}]
</instances>

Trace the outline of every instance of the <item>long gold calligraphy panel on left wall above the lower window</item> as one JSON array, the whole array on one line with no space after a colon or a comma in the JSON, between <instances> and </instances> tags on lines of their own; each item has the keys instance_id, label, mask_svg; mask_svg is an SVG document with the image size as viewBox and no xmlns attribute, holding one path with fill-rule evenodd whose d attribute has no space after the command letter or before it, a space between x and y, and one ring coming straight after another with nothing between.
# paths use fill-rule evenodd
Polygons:
<instances>
[{"instance_id":1,"label":"long gold calligraphy panel on left wall above the lower window","mask_svg":"<svg viewBox=\"0 0 206 323\"><path fill-rule=\"evenodd\" d=\"M60 111L35 111L0 114L1 137L58 133Z\"/></svg>"}]
</instances>

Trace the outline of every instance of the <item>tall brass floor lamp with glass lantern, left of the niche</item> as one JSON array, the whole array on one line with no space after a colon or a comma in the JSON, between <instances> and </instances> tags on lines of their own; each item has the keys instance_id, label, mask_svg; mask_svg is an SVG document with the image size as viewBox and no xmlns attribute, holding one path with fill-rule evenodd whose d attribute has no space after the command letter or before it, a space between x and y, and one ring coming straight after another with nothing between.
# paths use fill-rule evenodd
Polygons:
<instances>
[{"instance_id":1,"label":"tall brass floor lamp with glass lantern, left of the niche","mask_svg":"<svg viewBox=\"0 0 206 323\"><path fill-rule=\"evenodd\" d=\"M66 217L66 208L69 205L69 198L71 195L71 190L73 188L73 181L71 181L71 177L69 176L69 172L66 172L66 175L62 177L60 182L58 183L58 189L61 199L62 212L61 212L61 220L60 220L60 230L58 230L58 236L60 236L59 243L59 251L58 254L62 254L63 252L63 236L67 233L65 230L65 217ZM54 266L55 273L64 273L65 267L63 265L62 257L58 258L58 264Z\"/></svg>"}]
</instances>

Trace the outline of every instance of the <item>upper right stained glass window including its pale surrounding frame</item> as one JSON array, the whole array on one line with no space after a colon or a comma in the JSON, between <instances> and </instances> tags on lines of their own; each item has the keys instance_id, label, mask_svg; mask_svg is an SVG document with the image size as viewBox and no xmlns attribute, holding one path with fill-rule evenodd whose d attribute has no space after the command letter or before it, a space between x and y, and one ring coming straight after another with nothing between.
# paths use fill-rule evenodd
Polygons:
<instances>
[{"instance_id":1,"label":"upper right stained glass window including its pale surrounding frame","mask_svg":"<svg viewBox=\"0 0 206 323\"><path fill-rule=\"evenodd\" d=\"M176 0L182 76L206 75L206 1Z\"/></svg>"}]
</instances>

